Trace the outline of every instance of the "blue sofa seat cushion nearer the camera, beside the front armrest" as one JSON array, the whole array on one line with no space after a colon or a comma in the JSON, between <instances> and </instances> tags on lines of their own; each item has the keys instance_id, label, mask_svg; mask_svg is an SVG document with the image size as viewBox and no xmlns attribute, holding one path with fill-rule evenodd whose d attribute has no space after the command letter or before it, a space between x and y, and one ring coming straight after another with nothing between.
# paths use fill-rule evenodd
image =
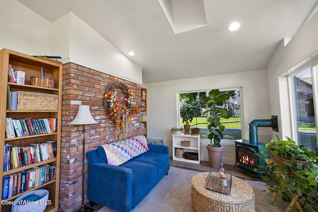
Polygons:
<instances>
[{"instance_id":1,"label":"blue sofa seat cushion nearer the camera, beside the front armrest","mask_svg":"<svg viewBox=\"0 0 318 212\"><path fill-rule=\"evenodd\" d=\"M157 175L157 167L149 163L129 160L120 166L129 168L133 172L133 195L138 194L151 184Z\"/></svg>"}]
</instances>

